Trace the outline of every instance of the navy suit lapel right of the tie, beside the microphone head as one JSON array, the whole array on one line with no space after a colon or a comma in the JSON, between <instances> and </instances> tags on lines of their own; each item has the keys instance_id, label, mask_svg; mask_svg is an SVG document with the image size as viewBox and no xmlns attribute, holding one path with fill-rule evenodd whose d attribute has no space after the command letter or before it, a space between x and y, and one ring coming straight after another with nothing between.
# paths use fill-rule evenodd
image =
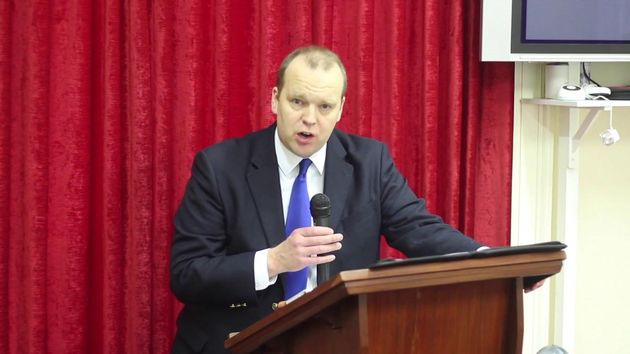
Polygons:
<instances>
[{"instance_id":1,"label":"navy suit lapel right of the tie, beside the microphone head","mask_svg":"<svg viewBox=\"0 0 630 354\"><path fill-rule=\"evenodd\" d=\"M354 168L345 160L345 157L346 149L333 132L328 140L324 177L324 193L330 198L332 207L330 226L333 230L339 227L354 173Z\"/></svg>"}]
</instances>

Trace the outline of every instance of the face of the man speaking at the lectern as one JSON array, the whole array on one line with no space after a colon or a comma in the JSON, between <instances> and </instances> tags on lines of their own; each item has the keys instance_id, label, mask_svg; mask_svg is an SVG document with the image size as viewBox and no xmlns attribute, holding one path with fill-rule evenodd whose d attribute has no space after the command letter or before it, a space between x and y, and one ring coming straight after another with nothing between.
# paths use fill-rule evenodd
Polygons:
<instances>
[{"instance_id":1,"label":"face of the man speaking at the lectern","mask_svg":"<svg viewBox=\"0 0 630 354\"><path fill-rule=\"evenodd\" d=\"M282 92L277 87L271 92L271 110L284 146L301 157L324 146L341 119L342 90L343 75L337 65L312 69L303 57L295 58L285 71Z\"/></svg>"}]
</instances>

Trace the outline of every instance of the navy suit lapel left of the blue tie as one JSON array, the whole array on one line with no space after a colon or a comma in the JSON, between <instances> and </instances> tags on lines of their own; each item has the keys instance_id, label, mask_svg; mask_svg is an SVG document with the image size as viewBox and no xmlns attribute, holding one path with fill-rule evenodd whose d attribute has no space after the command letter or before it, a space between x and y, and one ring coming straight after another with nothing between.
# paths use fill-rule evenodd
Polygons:
<instances>
[{"instance_id":1,"label":"navy suit lapel left of the blue tie","mask_svg":"<svg viewBox=\"0 0 630 354\"><path fill-rule=\"evenodd\" d=\"M275 124L254 141L252 161L247 171L249 189L269 247L274 247L285 239L280 177L273 143L274 131Z\"/></svg>"}]
</instances>

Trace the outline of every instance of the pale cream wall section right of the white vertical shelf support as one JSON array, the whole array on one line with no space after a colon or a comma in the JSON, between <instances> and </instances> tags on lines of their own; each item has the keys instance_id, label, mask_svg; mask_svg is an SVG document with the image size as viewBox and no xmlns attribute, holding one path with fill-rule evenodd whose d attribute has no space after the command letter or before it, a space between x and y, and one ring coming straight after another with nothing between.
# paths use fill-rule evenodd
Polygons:
<instances>
[{"instance_id":1,"label":"pale cream wall section right of the white vertical shelf support","mask_svg":"<svg viewBox=\"0 0 630 354\"><path fill-rule=\"evenodd\" d=\"M592 74L630 84L627 64ZM604 146L600 114L580 148L575 354L630 353L630 108L613 110L613 126L621 140Z\"/></svg>"}]
</instances>

